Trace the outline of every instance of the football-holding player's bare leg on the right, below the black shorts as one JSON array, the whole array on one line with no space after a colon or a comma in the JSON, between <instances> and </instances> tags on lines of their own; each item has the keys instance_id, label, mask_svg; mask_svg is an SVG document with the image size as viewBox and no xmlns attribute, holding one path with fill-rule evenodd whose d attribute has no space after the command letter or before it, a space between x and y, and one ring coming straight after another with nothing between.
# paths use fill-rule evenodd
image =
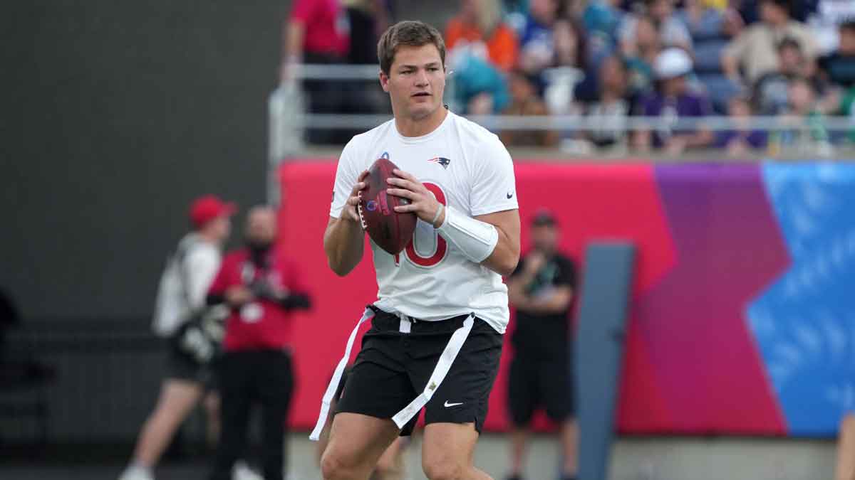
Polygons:
<instances>
[{"instance_id":1,"label":"football-holding player's bare leg on the right, below the black shorts","mask_svg":"<svg viewBox=\"0 0 855 480\"><path fill-rule=\"evenodd\" d=\"M475 468L475 424L428 424L422 443L422 470L430 480L492 480Z\"/></svg>"}]
</instances>

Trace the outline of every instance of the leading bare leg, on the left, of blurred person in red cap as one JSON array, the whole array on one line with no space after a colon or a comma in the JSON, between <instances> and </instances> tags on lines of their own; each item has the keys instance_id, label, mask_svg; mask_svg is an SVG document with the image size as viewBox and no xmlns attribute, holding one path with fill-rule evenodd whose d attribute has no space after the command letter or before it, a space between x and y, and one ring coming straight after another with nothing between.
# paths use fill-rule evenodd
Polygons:
<instances>
[{"instance_id":1,"label":"leading bare leg, on the left, of blurred person in red cap","mask_svg":"<svg viewBox=\"0 0 855 480\"><path fill-rule=\"evenodd\" d=\"M175 430L186 419L202 393L202 385L199 383L176 379L168 379L163 383L155 411L139 432L139 441L133 453L135 464L151 467L160 460Z\"/></svg>"}]
</instances>

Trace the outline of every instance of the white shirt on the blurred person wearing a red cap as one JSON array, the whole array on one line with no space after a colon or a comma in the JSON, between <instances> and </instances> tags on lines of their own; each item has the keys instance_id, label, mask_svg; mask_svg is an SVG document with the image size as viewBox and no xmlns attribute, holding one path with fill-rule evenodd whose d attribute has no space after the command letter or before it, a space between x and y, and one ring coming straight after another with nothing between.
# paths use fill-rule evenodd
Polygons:
<instances>
[{"instance_id":1,"label":"white shirt on the blurred person wearing a red cap","mask_svg":"<svg viewBox=\"0 0 855 480\"><path fill-rule=\"evenodd\" d=\"M215 244L194 233L178 243L169 257L157 289L154 331L168 337L205 305L205 296L220 269L221 253Z\"/></svg>"}]
</instances>

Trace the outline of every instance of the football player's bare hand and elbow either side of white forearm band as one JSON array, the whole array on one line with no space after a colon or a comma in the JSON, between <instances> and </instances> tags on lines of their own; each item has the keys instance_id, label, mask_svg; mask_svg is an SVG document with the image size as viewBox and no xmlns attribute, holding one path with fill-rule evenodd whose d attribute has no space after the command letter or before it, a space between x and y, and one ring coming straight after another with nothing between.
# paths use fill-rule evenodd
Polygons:
<instances>
[{"instance_id":1,"label":"football player's bare hand and elbow either side of white forearm band","mask_svg":"<svg viewBox=\"0 0 855 480\"><path fill-rule=\"evenodd\" d=\"M394 173L399 179L388 179L390 195L402 196L410 199L409 205L396 207L399 213L413 212L422 221L440 228L445 224L447 208L443 208L433 194L410 173L396 169ZM474 220L484 222L495 227L498 233L498 241L486 258L480 261L493 272L500 275L510 275L520 260L520 214L515 209L480 215Z\"/></svg>"}]
</instances>

